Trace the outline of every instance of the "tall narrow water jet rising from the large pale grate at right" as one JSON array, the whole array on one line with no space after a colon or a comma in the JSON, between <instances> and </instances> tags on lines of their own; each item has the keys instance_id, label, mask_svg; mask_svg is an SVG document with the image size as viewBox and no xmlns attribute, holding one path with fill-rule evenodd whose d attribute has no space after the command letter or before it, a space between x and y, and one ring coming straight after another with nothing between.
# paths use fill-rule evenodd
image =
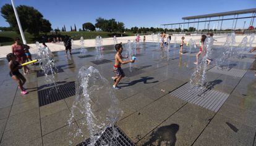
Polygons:
<instances>
[{"instance_id":1,"label":"tall narrow water jet rising from the large pale grate at right","mask_svg":"<svg viewBox=\"0 0 256 146\"><path fill-rule=\"evenodd\" d=\"M203 44L202 49L202 60L198 62L195 67L194 73L192 73L190 78L190 84L193 86L193 89L200 90L205 83L206 71L207 71L207 58L210 54L213 38L207 37L205 43Z\"/></svg>"}]
</instances>

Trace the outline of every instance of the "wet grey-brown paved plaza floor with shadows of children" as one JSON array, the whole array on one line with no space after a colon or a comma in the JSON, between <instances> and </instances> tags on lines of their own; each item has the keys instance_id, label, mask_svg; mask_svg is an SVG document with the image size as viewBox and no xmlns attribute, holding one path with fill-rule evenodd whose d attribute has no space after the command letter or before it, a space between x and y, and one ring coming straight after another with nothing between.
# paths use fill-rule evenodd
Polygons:
<instances>
[{"instance_id":1,"label":"wet grey-brown paved plaza floor with shadows of children","mask_svg":"<svg viewBox=\"0 0 256 146\"><path fill-rule=\"evenodd\" d=\"M95 47L88 47L86 54L78 49L67 56L54 52L59 70L55 77L62 89L56 95L47 95L53 85L45 83L38 65L30 65L33 71L25 75L29 94L20 95L7 60L0 60L0 145L69 145L69 132L77 128L85 137L75 137L72 145L88 139L80 123L85 117L75 113L72 128L67 121L80 67L97 68L113 85L114 46L104 47L101 57ZM124 44L123 55L127 48ZM213 47L205 90L197 93L189 81L198 49L179 55L173 45L168 53L157 43L142 43L132 71L129 64L122 65L127 77L114 90L124 112L117 127L136 145L255 145L256 77L250 70L255 54L228 59L230 69L220 71L214 63L220 49Z\"/></svg>"}]
</instances>

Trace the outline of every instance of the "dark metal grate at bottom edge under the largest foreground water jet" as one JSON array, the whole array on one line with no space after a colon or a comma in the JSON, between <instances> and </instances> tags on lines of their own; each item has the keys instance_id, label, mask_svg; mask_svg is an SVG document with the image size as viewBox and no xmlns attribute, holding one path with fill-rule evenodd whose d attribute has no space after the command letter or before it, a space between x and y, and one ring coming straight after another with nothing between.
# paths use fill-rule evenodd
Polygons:
<instances>
[{"instance_id":1,"label":"dark metal grate at bottom edge under the largest foreground water jet","mask_svg":"<svg viewBox=\"0 0 256 146\"><path fill-rule=\"evenodd\" d=\"M113 136L113 128L107 128L105 132L101 135L101 137L96 141L96 144L94 146L100 146L100 145L124 145L124 146L136 146L132 140L129 139L129 137L124 134L124 132L121 131L118 127L116 127L116 132L118 135L116 139L112 139ZM77 146L87 146L90 145L90 139L85 140L84 142L78 144Z\"/></svg>"}]
</instances>

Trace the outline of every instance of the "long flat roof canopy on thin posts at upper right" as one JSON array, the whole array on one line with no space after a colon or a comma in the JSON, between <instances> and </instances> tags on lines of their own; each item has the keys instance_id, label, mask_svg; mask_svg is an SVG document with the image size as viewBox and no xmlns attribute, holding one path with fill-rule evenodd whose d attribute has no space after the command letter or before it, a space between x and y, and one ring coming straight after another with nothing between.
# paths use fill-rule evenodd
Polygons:
<instances>
[{"instance_id":1,"label":"long flat roof canopy on thin posts at upper right","mask_svg":"<svg viewBox=\"0 0 256 146\"><path fill-rule=\"evenodd\" d=\"M256 12L256 8L244 9L244 10L233 10L229 12L221 12L221 13L206 14L206 15L196 15L196 16L190 16L190 17L183 17L182 19L191 20L191 19L197 19L197 18L220 17L220 16L226 16L226 15L249 14L253 12Z\"/></svg>"}]
</instances>

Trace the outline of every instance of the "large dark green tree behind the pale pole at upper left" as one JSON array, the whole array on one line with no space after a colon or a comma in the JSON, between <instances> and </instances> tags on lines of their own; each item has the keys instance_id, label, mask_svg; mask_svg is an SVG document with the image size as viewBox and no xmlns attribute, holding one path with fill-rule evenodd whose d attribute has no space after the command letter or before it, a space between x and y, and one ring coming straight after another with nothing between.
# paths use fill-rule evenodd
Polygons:
<instances>
[{"instance_id":1,"label":"large dark green tree behind the pale pole at upper left","mask_svg":"<svg viewBox=\"0 0 256 146\"><path fill-rule=\"evenodd\" d=\"M46 33L51 31L51 23L43 18L43 15L33 7L20 5L17 7L17 12L23 31L27 31L34 36L38 36L40 32ZM10 4L2 6L1 14L6 19L6 22L19 33L19 26L12 6Z\"/></svg>"}]
</instances>

